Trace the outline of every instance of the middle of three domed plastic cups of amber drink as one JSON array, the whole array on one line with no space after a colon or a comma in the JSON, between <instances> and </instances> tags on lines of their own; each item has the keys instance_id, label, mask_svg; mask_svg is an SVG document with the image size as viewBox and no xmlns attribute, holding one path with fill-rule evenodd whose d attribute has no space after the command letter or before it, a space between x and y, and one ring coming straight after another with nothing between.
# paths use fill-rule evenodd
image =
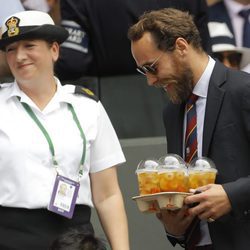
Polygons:
<instances>
[{"instance_id":1,"label":"middle of three domed plastic cups of amber drink","mask_svg":"<svg viewBox=\"0 0 250 250\"><path fill-rule=\"evenodd\" d=\"M168 154L159 160L159 187L161 192L188 192L188 175L184 160Z\"/></svg>"}]
</instances>

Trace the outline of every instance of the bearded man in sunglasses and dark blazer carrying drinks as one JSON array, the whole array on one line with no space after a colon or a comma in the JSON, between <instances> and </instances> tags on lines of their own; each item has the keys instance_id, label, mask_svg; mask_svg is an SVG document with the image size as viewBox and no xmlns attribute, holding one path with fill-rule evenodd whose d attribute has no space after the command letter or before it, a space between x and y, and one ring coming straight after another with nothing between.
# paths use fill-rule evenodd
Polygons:
<instances>
[{"instance_id":1,"label":"bearded man in sunglasses and dark blazer carrying drinks","mask_svg":"<svg viewBox=\"0 0 250 250\"><path fill-rule=\"evenodd\" d=\"M163 115L168 153L185 156L185 102L195 94L198 156L211 158L218 170L216 183L190 190L201 193L186 197L182 209L158 214L168 239L186 249L248 249L250 75L209 57L185 12L152 11L141 16L128 36L138 71L169 96ZM196 234L197 228L202 234Z\"/></svg>"}]
</instances>

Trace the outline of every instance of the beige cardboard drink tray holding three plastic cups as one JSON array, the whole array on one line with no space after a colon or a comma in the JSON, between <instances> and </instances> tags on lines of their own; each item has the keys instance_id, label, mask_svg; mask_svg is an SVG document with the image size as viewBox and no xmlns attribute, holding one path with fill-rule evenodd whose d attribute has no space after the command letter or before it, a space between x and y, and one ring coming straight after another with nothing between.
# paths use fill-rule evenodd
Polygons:
<instances>
[{"instance_id":1,"label":"beige cardboard drink tray holding three plastic cups","mask_svg":"<svg viewBox=\"0 0 250 250\"><path fill-rule=\"evenodd\" d=\"M156 213L160 209L176 210L183 206L184 198L191 193L161 192L132 197L143 213Z\"/></svg>"}]
</instances>

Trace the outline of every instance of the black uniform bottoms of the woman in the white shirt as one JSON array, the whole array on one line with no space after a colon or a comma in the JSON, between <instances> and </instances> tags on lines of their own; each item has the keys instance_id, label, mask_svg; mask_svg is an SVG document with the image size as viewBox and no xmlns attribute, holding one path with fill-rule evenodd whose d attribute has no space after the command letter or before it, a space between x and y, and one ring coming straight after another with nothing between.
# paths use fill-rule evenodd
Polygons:
<instances>
[{"instance_id":1,"label":"black uniform bottoms of the woman in the white shirt","mask_svg":"<svg viewBox=\"0 0 250 250\"><path fill-rule=\"evenodd\" d=\"M91 208L76 205L72 219L47 209L24 209L0 206L1 250L47 250L52 241L70 228L93 227Z\"/></svg>"}]
</instances>

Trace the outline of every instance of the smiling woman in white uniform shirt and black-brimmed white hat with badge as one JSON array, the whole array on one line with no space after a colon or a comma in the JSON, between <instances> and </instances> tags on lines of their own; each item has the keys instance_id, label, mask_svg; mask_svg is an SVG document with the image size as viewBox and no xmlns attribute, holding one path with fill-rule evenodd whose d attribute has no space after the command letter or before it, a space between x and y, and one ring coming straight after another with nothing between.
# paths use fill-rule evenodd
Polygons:
<instances>
[{"instance_id":1,"label":"smiling woman in white uniform shirt and black-brimmed white hat with badge","mask_svg":"<svg viewBox=\"0 0 250 250\"><path fill-rule=\"evenodd\" d=\"M129 249L116 133L91 92L54 77L67 36L39 11L2 25L15 81L0 89L0 249L45 250L69 228L92 230L93 205L111 248Z\"/></svg>"}]
</instances>

